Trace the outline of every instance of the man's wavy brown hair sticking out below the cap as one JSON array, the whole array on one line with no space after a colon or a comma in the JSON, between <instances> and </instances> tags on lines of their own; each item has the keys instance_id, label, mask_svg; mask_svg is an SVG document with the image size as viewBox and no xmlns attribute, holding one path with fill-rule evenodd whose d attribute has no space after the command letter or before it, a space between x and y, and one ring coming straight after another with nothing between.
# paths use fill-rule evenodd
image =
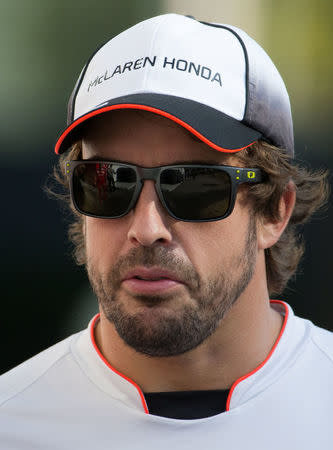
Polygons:
<instances>
[{"instance_id":1,"label":"man's wavy brown hair sticking out below the cap","mask_svg":"<svg viewBox=\"0 0 333 450\"><path fill-rule=\"evenodd\" d=\"M53 179L63 188L56 192L51 186L46 190L53 197L64 201L74 213L74 221L69 226L69 238L74 244L73 255L79 265L86 263L84 219L71 204L68 179L65 175L65 161L80 159L81 141L73 145L69 153L62 155L53 170ZM304 243L299 226L326 204L329 195L326 170L312 171L297 164L286 152L264 141L237 153L245 167L259 167L267 174L264 183L249 185L248 198L257 216L277 220L279 200L292 181L296 190L296 204L289 224L278 242L265 250L267 285L269 294L280 294L288 280L294 275L304 253Z\"/></svg>"}]
</instances>

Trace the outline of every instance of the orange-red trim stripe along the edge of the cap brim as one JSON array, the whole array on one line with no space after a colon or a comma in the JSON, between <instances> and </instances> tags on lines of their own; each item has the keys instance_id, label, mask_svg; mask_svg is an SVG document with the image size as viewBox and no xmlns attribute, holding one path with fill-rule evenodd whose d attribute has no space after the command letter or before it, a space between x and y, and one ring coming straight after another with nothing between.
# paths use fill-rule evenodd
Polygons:
<instances>
[{"instance_id":1,"label":"orange-red trim stripe along the edge of the cap brim","mask_svg":"<svg viewBox=\"0 0 333 450\"><path fill-rule=\"evenodd\" d=\"M220 146L214 144L214 142L210 141L205 136L203 136L201 133L199 133L197 130L195 130L193 127L191 127L191 125L189 125L188 123L179 119L178 117L173 116L170 113L162 111L161 109L158 109L158 108L153 108L152 106L124 103L124 104L119 104L119 105L105 106L104 108L92 111L92 112L80 117L79 119L77 119L68 128L66 128L66 130L59 137L59 139L56 143L56 146L55 146L55 153L59 154L59 149L60 149L61 144L63 143L64 139L78 125L80 125L81 123L85 122L86 120L88 120L94 116L97 116L97 115L102 114L107 111L113 111L116 109L142 109L144 111L149 111L149 112L152 112L155 114L159 114L160 116L164 116L167 119L170 119L170 120L178 123L178 125L181 125L182 127L186 128L188 131L190 131L192 134L194 134L197 138L199 138L202 142L204 142L205 144L207 144L209 147L213 148L214 150L218 150L219 152L236 153L236 152L239 152L240 150L250 147L250 145L253 145L255 142L255 141L253 141L250 144L245 145L245 147L240 147L240 148L236 148L236 149L223 148L223 147L220 147Z\"/></svg>"}]
</instances>

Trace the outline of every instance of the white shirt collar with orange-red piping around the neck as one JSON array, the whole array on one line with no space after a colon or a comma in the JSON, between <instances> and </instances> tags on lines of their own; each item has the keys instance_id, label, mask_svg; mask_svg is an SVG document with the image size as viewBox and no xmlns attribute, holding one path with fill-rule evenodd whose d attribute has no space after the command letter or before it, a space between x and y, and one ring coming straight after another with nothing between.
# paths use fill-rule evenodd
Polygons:
<instances>
[{"instance_id":1,"label":"white shirt collar with orange-red piping around the neck","mask_svg":"<svg viewBox=\"0 0 333 450\"><path fill-rule=\"evenodd\" d=\"M228 396L227 411L234 409L258 395L273 384L285 371L304 345L305 325L296 320L292 308L285 302L272 300L271 307L284 316L280 334L267 358L253 371L236 380ZM72 342L72 352L78 364L90 380L102 391L131 408L148 413L144 394L130 378L111 366L99 351L94 329L99 320L97 314L88 328Z\"/></svg>"}]
</instances>

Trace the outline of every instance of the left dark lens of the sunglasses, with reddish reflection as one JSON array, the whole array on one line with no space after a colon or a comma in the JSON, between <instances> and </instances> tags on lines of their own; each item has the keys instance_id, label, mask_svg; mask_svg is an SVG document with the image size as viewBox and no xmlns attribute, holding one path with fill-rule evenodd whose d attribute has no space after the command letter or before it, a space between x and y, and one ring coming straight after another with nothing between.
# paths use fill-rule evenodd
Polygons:
<instances>
[{"instance_id":1,"label":"left dark lens of the sunglasses, with reddish reflection","mask_svg":"<svg viewBox=\"0 0 333 450\"><path fill-rule=\"evenodd\" d=\"M73 171L74 200L83 214L121 216L130 205L136 181L136 172L131 167L82 163Z\"/></svg>"}]
</instances>

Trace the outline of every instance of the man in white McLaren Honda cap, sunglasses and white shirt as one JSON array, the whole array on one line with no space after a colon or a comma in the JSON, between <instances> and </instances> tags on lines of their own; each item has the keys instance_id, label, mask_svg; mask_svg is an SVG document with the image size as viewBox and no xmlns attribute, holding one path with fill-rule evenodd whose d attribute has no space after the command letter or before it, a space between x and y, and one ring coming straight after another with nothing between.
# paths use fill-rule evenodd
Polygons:
<instances>
[{"instance_id":1,"label":"man in white McLaren Honda cap, sunglasses and white shirt","mask_svg":"<svg viewBox=\"0 0 333 450\"><path fill-rule=\"evenodd\" d=\"M269 300L325 174L243 31L175 14L101 47L58 181L100 315L2 377L2 448L331 449L333 336Z\"/></svg>"}]
</instances>

